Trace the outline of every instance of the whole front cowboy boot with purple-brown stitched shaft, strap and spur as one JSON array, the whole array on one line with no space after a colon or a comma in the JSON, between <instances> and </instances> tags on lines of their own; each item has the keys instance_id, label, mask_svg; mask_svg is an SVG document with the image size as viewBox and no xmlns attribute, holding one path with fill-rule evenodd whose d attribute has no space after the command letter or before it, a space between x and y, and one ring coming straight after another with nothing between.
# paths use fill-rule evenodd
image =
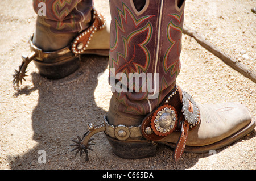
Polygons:
<instances>
[{"instance_id":1,"label":"whole front cowboy boot with purple-brown stitched shaft, strap and spur","mask_svg":"<svg viewBox=\"0 0 256 181\"><path fill-rule=\"evenodd\" d=\"M141 2L137 6L136 1L110 1L113 96L104 123L89 124L89 132L73 145L75 149L88 154L90 137L104 131L119 157L150 157L156 154L156 144L166 144L175 149L178 161L184 151L219 149L252 131L255 119L245 106L199 104L176 84L185 1ZM135 92L128 83L134 78L129 73L141 75L139 90L151 83L154 91ZM143 81L143 73L153 76Z\"/></svg>"}]
</instances>

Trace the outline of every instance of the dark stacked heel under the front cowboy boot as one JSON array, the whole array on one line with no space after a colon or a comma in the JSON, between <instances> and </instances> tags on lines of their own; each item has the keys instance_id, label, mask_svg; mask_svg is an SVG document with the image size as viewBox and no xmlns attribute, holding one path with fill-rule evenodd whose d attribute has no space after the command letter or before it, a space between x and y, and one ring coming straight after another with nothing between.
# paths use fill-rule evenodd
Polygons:
<instances>
[{"instance_id":1,"label":"dark stacked heel under the front cowboy boot","mask_svg":"<svg viewBox=\"0 0 256 181\"><path fill-rule=\"evenodd\" d=\"M140 159L156 155L156 146L148 142L119 141L107 136L116 155L125 159Z\"/></svg>"}]
</instances>

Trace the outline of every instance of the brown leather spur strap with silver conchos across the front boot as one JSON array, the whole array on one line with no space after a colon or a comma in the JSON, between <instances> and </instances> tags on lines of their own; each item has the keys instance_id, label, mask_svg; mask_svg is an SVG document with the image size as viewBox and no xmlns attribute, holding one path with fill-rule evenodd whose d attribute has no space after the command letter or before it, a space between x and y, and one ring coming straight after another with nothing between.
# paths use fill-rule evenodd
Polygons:
<instances>
[{"instance_id":1,"label":"brown leather spur strap with silver conchos across the front boot","mask_svg":"<svg viewBox=\"0 0 256 181\"><path fill-rule=\"evenodd\" d=\"M147 140L160 142L172 132L180 132L174 150L174 160L179 161L184 153L189 130L200 122L200 111L193 98L177 86L163 103L142 121L141 131Z\"/></svg>"}]
</instances>

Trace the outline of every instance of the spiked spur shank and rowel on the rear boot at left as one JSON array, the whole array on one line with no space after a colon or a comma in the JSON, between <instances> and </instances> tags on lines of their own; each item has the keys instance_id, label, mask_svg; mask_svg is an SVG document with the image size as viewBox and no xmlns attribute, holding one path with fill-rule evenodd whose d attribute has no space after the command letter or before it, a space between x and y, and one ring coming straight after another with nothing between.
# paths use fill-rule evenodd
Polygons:
<instances>
[{"instance_id":1,"label":"spiked spur shank and rowel on the rear boot at left","mask_svg":"<svg viewBox=\"0 0 256 181\"><path fill-rule=\"evenodd\" d=\"M24 77L28 76L26 73L28 72L27 66L28 64L36 57L36 52L31 52L28 56L22 56L22 64L19 66L19 70L15 70L15 74L13 74L13 85L19 86L19 82L22 85L22 80L26 81Z\"/></svg>"}]
</instances>

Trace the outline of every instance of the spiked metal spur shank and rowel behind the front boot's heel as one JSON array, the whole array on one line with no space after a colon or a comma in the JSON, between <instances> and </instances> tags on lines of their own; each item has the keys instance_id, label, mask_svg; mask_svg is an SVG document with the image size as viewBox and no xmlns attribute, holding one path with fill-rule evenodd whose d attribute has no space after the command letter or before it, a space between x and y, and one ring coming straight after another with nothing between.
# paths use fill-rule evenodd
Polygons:
<instances>
[{"instance_id":1,"label":"spiked metal spur shank and rowel behind the front boot's heel","mask_svg":"<svg viewBox=\"0 0 256 181\"><path fill-rule=\"evenodd\" d=\"M71 150L71 152L76 150L75 155L77 155L80 152L80 156L82 156L82 154L85 153L86 161L89 161L88 150L93 151L93 149L89 148L89 146L95 145L93 143L90 143L94 140L91 137L98 132L105 131L106 125L104 123L94 127L94 125L90 123L88 124L88 129L89 131L86 132L82 138L77 136L77 140L72 140L73 142L75 142L75 144L70 145L70 146L75 146L75 148Z\"/></svg>"}]
</instances>

